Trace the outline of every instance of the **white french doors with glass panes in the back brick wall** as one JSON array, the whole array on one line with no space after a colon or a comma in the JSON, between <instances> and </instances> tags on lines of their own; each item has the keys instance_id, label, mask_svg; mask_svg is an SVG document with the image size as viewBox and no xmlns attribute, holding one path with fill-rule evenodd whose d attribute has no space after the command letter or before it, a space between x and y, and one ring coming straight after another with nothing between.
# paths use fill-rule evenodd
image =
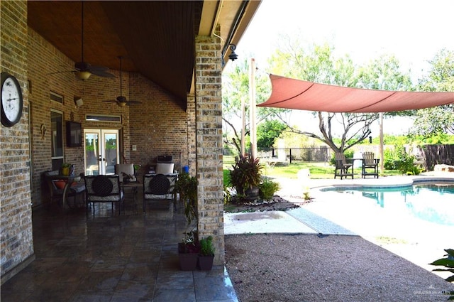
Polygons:
<instances>
[{"instance_id":1,"label":"white french doors with glass panes in the back brick wall","mask_svg":"<svg viewBox=\"0 0 454 302\"><path fill-rule=\"evenodd\" d=\"M118 130L84 129L85 175L115 173L120 162Z\"/></svg>"}]
</instances>

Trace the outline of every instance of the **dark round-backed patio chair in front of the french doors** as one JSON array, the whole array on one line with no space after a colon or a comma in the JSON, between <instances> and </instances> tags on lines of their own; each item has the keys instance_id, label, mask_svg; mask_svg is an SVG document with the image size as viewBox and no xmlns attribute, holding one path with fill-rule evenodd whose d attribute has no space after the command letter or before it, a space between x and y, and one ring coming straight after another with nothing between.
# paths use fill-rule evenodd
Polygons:
<instances>
[{"instance_id":1,"label":"dark round-backed patio chair in front of the french doors","mask_svg":"<svg viewBox=\"0 0 454 302\"><path fill-rule=\"evenodd\" d=\"M118 175L84 176L87 187L86 203L87 214L89 203L111 203L112 214L114 214L114 203L118 203L118 215L121 215L121 206L124 201L123 190L121 190L120 178ZM124 203L123 203L124 206Z\"/></svg>"}]
</instances>

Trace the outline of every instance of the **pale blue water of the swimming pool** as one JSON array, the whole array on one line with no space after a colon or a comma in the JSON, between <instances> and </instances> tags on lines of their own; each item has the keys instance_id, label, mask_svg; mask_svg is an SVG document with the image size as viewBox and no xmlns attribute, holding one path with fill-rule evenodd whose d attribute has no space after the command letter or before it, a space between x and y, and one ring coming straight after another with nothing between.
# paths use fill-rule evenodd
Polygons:
<instances>
[{"instance_id":1,"label":"pale blue water of the swimming pool","mask_svg":"<svg viewBox=\"0 0 454 302\"><path fill-rule=\"evenodd\" d=\"M330 187L321 191L350 194L394 214L402 213L426 222L454 226L453 183L416 184L397 188Z\"/></svg>"}]
</instances>

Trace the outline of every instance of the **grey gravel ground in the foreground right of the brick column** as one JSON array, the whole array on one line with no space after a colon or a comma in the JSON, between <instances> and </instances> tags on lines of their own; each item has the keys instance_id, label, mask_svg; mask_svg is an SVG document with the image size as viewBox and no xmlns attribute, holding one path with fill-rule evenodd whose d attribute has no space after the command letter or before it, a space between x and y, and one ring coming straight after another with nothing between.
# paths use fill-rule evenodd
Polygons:
<instances>
[{"instance_id":1,"label":"grey gravel ground in the foreground right of the brick column","mask_svg":"<svg viewBox=\"0 0 454 302\"><path fill-rule=\"evenodd\" d=\"M358 236L242 234L225 240L240 302L446 301L443 291L454 291L454 284Z\"/></svg>"}]
</instances>

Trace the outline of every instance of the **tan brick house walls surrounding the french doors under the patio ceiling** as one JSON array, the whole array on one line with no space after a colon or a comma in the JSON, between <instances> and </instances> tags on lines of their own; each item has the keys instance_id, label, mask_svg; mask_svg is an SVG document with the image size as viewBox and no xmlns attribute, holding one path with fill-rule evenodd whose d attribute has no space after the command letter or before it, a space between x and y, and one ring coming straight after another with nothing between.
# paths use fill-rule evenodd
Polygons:
<instances>
[{"instance_id":1,"label":"tan brick house walls surrounding the french doors under the patio ceiling","mask_svg":"<svg viewBox=\"0 0 454 302\"><path fill-rule=\"evenodd\" d=\"M96 77L87 81L77 80L70 72L74 62L62 55L48 41L29 28L28 34L28 79L31 92L31 145L33 150L33 205L39 205L48 198L43 185L43 172L52 168L50 110L63 112L65 121L73 119L81 122L83 129L118 129L121 131L121 158L128 163L141 165L140 173L153 166L156 157L171 154L175 169L187 163L187 112L184 112L175 99L155 83L140 74L122 73L122 95L127 99L138 100L142 104L118 107L115 103L102 102L116 99L120 95L119 71L111 70L116 78ZM50 75L52 72L68 70ZM59 104L49 99L50 91L64 97ZM84 104L77 108L74 97L82 97ZM110 114L121 116L121 123L85 121L86 114ZM43 138L40 127L48 131ZM132 145L137 151L132 151ZM84 172L83 147L69 148L64 144L65 161L74 163L76 173ZM181 157L180 157L181 156ZM181 158L181 159L180 159ZM139 178L140 179L140 178Z\"/></svg>"}]
</instances>

